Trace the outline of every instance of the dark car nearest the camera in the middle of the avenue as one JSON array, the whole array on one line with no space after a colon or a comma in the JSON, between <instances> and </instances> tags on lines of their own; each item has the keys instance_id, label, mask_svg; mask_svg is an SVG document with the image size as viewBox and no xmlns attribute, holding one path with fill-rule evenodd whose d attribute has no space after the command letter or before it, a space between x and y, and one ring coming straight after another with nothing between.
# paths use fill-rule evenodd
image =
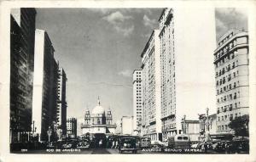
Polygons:
<instances>
[{"instance_id":1,"label":"dark car nearest the camera in the middle of the avenue","mask_svg":"<svg viewBox=\"0 0 256 162\"><path fill-rule=\"evenodd\" d=\"M125 151L137 153L137 139L135 137L120 137L119 139L119 153Z\"/></svg>"}]
</instances>

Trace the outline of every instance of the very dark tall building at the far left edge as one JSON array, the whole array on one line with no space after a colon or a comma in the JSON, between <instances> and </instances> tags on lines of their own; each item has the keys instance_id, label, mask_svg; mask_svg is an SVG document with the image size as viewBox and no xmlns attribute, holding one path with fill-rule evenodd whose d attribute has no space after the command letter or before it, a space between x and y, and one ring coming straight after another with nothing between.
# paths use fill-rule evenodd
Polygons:
<instances>
[{"instance_id":1,"label":"very dark tall building at the far left edge","mask_svg":"<svg viewBox=\"0 0 256 162\"><path fill-rule=\"evenodd\" d=\"M35 19L34 8L11 9L10 142L26 141L31 131Z\"/></svg>"}]
</instances>

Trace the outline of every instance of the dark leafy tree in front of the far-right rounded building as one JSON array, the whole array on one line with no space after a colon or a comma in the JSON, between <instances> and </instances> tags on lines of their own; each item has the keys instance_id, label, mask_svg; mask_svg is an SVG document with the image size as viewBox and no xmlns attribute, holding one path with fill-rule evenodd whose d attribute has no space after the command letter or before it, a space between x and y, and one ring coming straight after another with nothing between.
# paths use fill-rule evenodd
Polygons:
<instances>
[{"instance_id":1,"label":"dark leafy tree in front of the far-right rounded building","mask_svg":"<svg viewBox=\"0 0 256 162\"><path fill-rule=\"evenodd\" d=\"M242 115L231 120L229 126L235 131L235 136L249 137L249 115Z\"/></svg>"}]
</instances>

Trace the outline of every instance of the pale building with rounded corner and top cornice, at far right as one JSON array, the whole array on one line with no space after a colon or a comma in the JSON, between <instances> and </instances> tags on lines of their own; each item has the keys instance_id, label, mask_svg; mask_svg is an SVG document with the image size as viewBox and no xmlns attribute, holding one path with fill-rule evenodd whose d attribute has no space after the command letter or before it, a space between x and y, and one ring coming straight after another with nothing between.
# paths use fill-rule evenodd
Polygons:
<instances>
[{"instance_id":1,"label":"pale building with rounded corner and top cornice, at far right","mask_svg":"<svg viewBox=\"0 0 256 162\"><path fill-rule=\"evenodd\" d=\"M219 38L214 51L218 133L231 131L230 120L249 113L248 55L247 31L231 30Z\"/></svg>"}]
</instances>

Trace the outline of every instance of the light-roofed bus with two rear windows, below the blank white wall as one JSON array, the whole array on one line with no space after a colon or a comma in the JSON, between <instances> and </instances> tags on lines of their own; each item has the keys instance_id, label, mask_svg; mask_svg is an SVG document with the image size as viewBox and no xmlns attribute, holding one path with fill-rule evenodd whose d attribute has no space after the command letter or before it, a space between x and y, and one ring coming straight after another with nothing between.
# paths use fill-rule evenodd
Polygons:
<instances>
[{"instance_id":1,"label":"light-roofed bus with two rear windows, below the blank white wall","mask_svg":"<svg viewBox=\"0 0 256 162\"><path fill-rule=\"evenodd\" d=\"M190 148L189 135L180 134L173 137L168 137L168 148L185 149Z\"/></svg>"}]
</instances>

